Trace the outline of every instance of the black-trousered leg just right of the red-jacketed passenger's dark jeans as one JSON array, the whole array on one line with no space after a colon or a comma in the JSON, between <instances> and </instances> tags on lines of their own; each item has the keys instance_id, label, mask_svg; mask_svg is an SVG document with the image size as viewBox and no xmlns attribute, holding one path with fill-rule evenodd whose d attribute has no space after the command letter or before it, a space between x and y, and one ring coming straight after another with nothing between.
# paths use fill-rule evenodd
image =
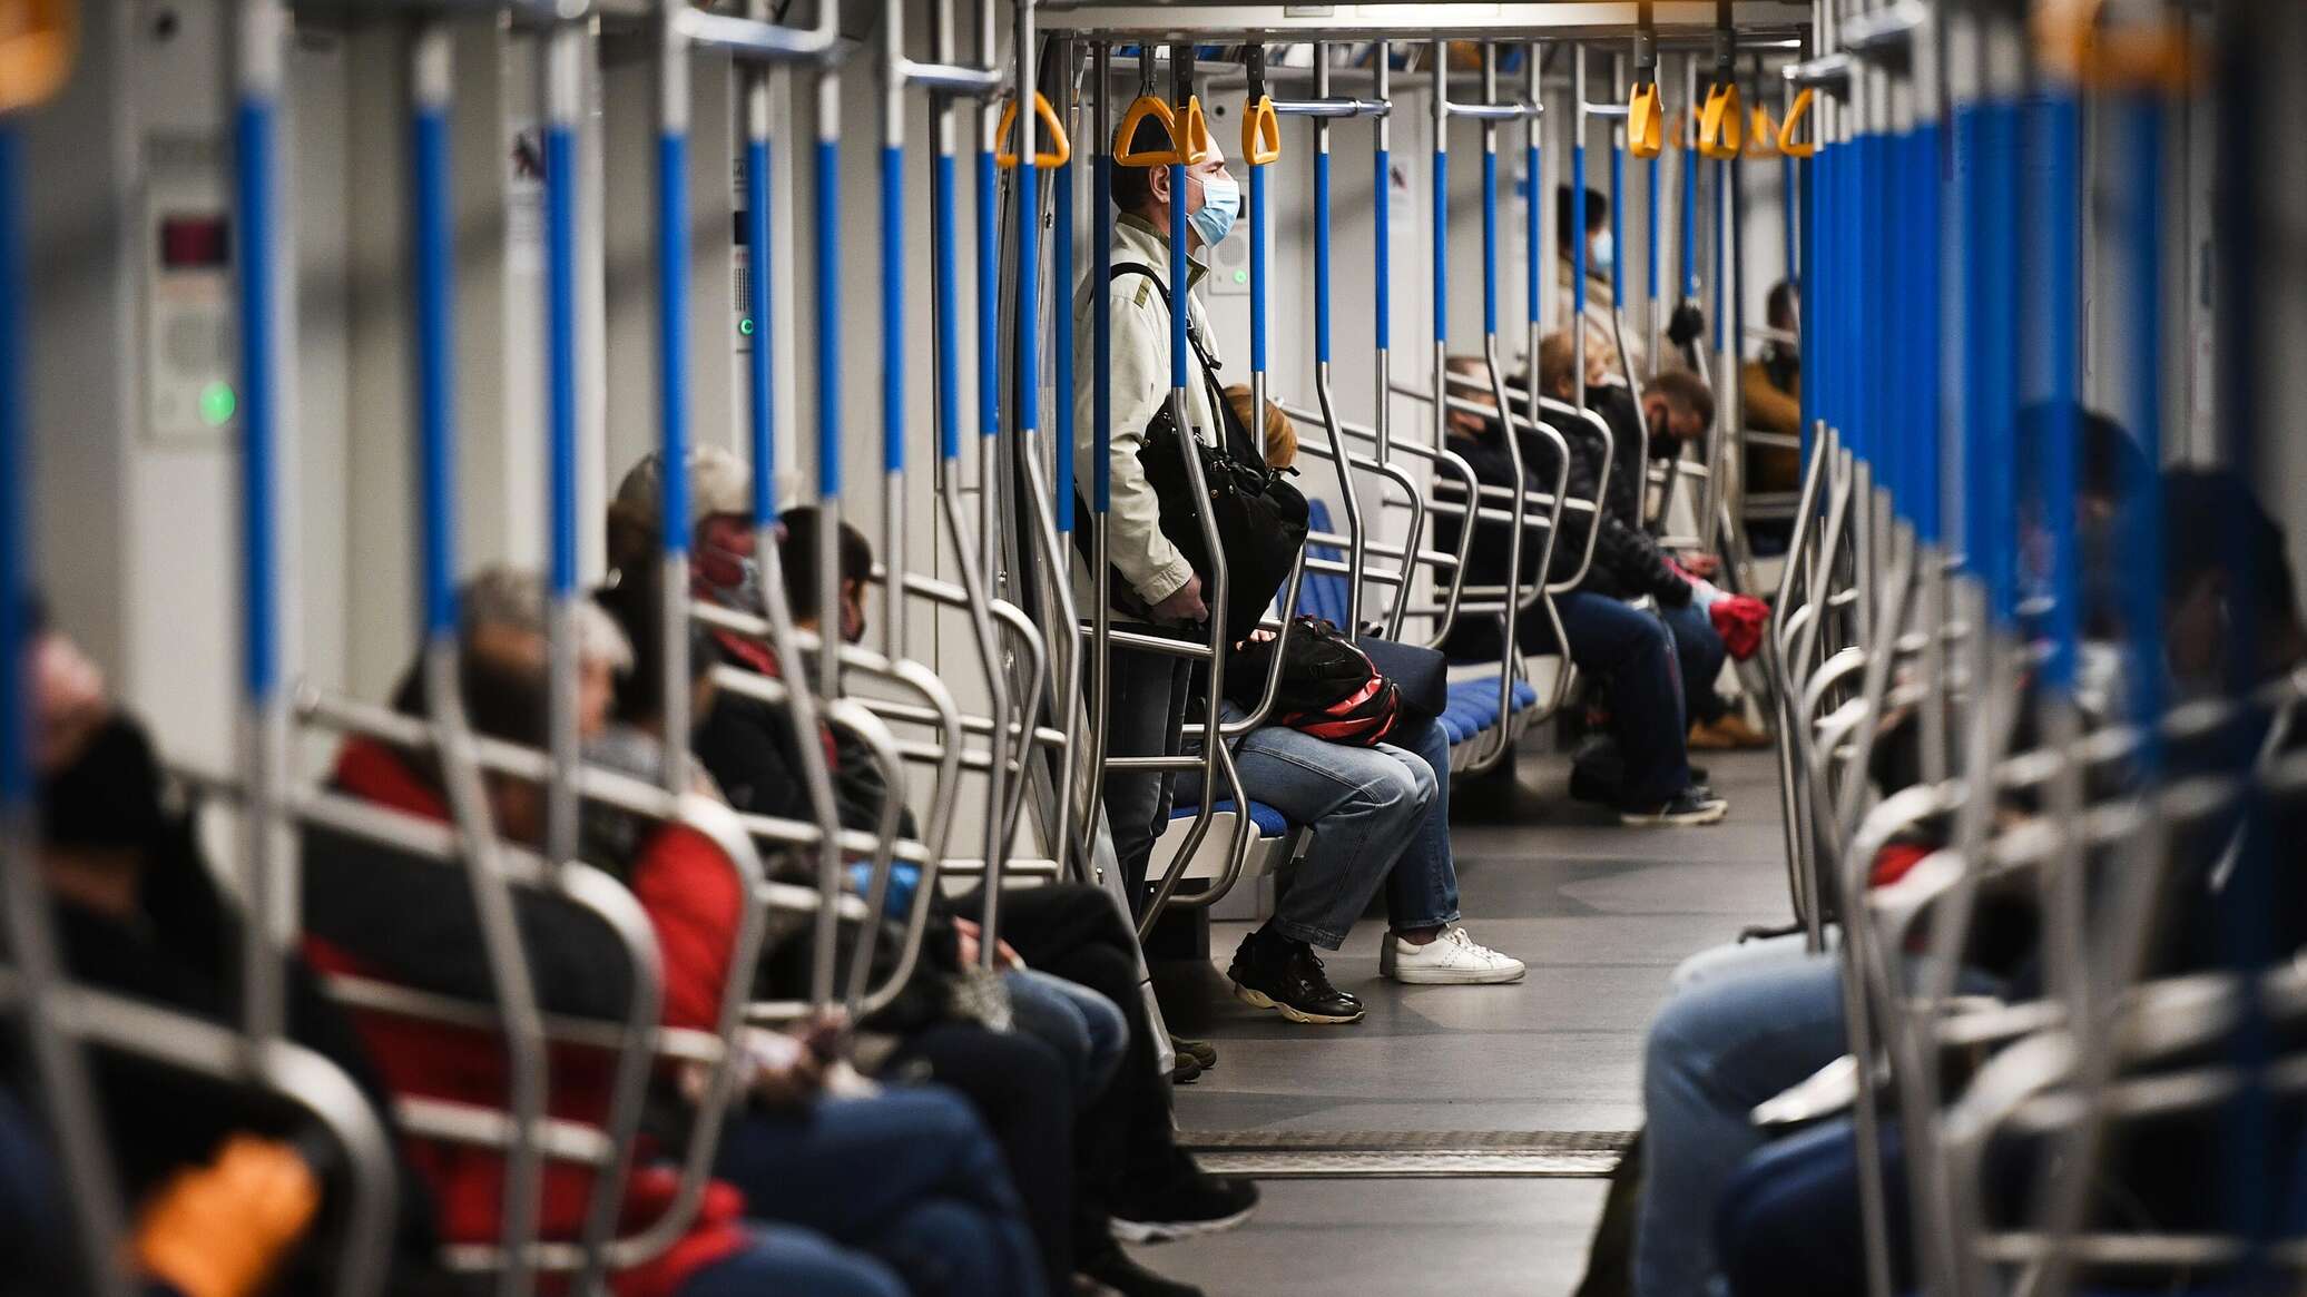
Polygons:
<instances>
[{"instance_id":1,"label":"black-trousered leg just right of the red-jacketed passenger's dark jeans","mask_svg":"<svg viewBox=\"0 0 2307 1297\"><path fill-rule=\"evenodd\" d=\"M914 1032L891 1055L888 1071L925 1064L930 1080L969 1099L1001 1145L1024 1219L1040 1244L1052 1290L1073 1279L1073 1087L1066 1064L1031 1036L939 1022Z\"/></svg>"}]
</instances>

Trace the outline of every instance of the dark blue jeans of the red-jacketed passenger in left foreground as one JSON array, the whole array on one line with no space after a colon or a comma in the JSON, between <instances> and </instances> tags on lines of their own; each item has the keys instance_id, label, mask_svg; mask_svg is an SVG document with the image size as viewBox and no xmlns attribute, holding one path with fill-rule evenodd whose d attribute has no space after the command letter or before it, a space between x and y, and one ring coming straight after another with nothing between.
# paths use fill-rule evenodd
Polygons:
<instances>
[{"instance_id":1,"label":"dark blue jeans of the red-jacketed passenger in left foreground","mask_svg":"<svg viewBox=\"0 0 2307 1297\"><path fill-rule=\"evenodd\" d=\"M713 1170L745 1193L747 1214L867 1251L902 1274L914 1297L1043 1292L1040 1253L1001 1149L948 1089L743 1112ZM791 1283L745 1292L835 1290Z\"/></svg>"}]
</instances>

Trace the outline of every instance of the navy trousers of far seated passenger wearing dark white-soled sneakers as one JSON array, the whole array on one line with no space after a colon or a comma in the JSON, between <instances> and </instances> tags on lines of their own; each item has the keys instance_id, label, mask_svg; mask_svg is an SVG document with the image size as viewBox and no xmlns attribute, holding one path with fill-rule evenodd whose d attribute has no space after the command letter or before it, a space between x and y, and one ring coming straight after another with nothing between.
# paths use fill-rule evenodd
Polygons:
<instances>
[{"instance_id":1,"label":"navy trousers of far seated passenger wearing dark white-soled sneakers","mask_svg":"<svg viewBox=\"0 0 2307 1297\"><path fill-rule=\"evenodd\" d=\"M1610 683L1610 734L1617 739L1626 775L1620 796L1626 810L1650 810L1691 785L1689 718L1682 713L1682 667L1675 637L1656 616L1624 600L1571 591L1555 595L1571 662ZM1546 609L1523 614L1525 653L1550 653L1553 628Z\"/></svg>"}]
</instances>

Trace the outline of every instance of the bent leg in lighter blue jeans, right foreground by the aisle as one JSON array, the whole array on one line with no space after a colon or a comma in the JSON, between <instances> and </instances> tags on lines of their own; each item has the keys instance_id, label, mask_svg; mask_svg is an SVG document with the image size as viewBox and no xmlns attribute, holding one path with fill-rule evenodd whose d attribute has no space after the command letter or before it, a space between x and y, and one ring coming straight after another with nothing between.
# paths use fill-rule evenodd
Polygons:
<instances>
[{"instance_id":1,"label":"bent leg in lighter blue jeans, right foreground by the aisle","mask_svg":"<svg viewBox=\"0 0 2307 1297\"><path fill-rule=\"evenodd\" d=\"M1700 1297L1714 1274L1714 1209L1746 1154L1749 1115L1843 1052L1841 965L1813 955L1691 985L1650 1025L1643 1062L1638 1297Z\"/></svg>"}]
</instances>

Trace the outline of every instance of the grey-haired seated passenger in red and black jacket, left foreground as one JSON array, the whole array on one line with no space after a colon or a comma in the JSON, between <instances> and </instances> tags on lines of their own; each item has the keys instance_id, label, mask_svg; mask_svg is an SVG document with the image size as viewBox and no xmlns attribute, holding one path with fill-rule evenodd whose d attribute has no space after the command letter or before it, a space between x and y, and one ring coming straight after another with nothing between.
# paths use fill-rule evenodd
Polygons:
<instances>
[{"instance_id":1,"label":"grey-haired seated passenger in red and black jacket, left foreground","mask_svg":"<svg viewBox=\"0 0 2307 1297\"><path fill-rule=\"evenodd\" d=\"M475 732L512 743L544 741L544 595L535 577L491 570L461 600L459 692ZM598 662L623 655L616 625L579 607L579 653ZM429 715L429 690L411 674L397 706ZM448 819L438 759L374 739L351 739L337 757L335 787L422 819ZM544 796L533 782L484 775L496 833L535 845L544 835ZM394 847L339 831L309 831L305 863L305 946L316 965L378 976L399 985L487 1002L491 976L468 882L461 870L406 856ZM734 872L708 840L664 826L648 835L623 870L648 912L664 960L664 1020L671 1027L715 1029L715 1009L729 976L738 893ZM618 1020L632 995L623 946L586 912L556 898L517 893L524 953L540 1009L591 1020ZM503 1048L494 1034L360 1013L362 1034L397 1094L434 1096L501 1108L505 1103ZM607 1108L609 1059L574 1048L551 1057L547 1110L554 1117L600 1122ZM771 1073L771 1092L787 1078ZM443 1235L452 1242L496 1242L501 1235L503 1156L489 1149L418 1140L411 1159L441 1198ZM547 1161L540 1232L574 1237L593 1172ZM623 1223L637 1228L671 1202L676 1175L655 1165L648 1149L628 1170ZM727 1184L708 1186L687 1232L662 1255L616 1272L621 1297L736 1297L750 1292L842 1292L893 1297L907 1288L861 1253L831 1246L807 1230L766 1225L745 1216L743 1198Z\"/></svg>"}]
</instances>

